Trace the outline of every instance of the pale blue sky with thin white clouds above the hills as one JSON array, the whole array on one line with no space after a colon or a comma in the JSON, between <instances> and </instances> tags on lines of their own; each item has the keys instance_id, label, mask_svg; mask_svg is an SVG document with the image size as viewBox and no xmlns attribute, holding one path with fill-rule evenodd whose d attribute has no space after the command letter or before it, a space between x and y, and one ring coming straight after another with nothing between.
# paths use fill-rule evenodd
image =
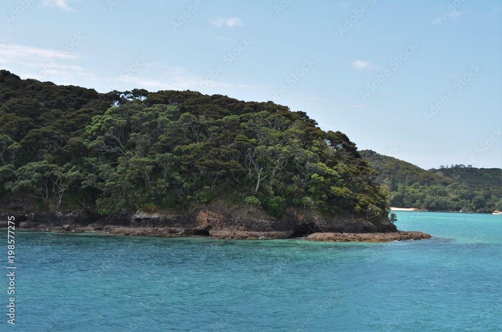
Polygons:
<instances>
[{"instance_id":1,"label":"pale blue sky with thin white clouds above the hills","mask_svg":"<svg viewBox=\"0 0 502 332\"><path fill-rule=\"evenodd\" d=\"M502 168L502 0L2 0L0 69L272 100L423 169Z\"/></svg>"}]
</instances>

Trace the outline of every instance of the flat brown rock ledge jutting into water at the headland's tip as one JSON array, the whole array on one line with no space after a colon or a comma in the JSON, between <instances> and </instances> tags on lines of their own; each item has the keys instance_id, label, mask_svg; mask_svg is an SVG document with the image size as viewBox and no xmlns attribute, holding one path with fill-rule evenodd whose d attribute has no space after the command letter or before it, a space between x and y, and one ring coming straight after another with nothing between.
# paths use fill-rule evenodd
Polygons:
<instances>
[{"instance_id":1,"label":"flat brown rock ledge jutting into water at the headland's tip","mask_svg":"<svg viewBox=\"0 0 502 332\"><path fill-rule=\"evenodd\" d=\"M393 233L313 233L307 237L308 241L321 242L392 242L405 240L432 239L432 236L422 232Z\"/></svg>"}]
</instances>

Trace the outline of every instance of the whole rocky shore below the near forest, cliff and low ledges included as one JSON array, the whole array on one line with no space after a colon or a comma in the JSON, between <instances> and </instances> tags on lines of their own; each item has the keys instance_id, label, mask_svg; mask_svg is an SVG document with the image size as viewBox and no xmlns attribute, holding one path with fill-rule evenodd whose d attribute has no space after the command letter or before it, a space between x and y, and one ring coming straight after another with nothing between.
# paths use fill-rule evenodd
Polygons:
<instances>
[{"instance_id":1,"label":"whole rocky shore below the near forest, cliff and low ledges included","mask_svg":"<svg viewBox=\"0 0 502 332\"><path fill-rule=\"evenodd\" d=\"M235 207L212 205L204 210L171 215L139 212L100 217L83 212L49 213L0 211L0 228L14 215L16 228L36 231L107 232L124 236L209 236L226 240L307 238L308 241L390 242L430 239L421 232L402 232L388 219L370 223L361 218L325 219L318 214L288 210L282 220L263 212L247 213ZM17 212L17 213L16 213Z\"/></svg>"}]
</instances>

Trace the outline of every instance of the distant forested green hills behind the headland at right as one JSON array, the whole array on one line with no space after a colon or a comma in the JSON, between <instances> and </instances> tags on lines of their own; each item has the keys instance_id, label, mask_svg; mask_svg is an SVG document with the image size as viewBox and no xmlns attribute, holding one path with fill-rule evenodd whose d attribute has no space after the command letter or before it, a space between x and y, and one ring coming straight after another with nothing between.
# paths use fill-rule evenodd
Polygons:
<instances>
[{"instance_id":1,"label":"distant forested green hills behind the headland at right","mask_svg":"<svg viewBox=\"0 0 502 332\"><path fill-rule=\"evenodd\" d=\"M391 206L482 213L502 210L501 169L451 165L426 171L371 150L360 153L378 172L376 181L389 188Z\"/></svg>"}]
</instances>

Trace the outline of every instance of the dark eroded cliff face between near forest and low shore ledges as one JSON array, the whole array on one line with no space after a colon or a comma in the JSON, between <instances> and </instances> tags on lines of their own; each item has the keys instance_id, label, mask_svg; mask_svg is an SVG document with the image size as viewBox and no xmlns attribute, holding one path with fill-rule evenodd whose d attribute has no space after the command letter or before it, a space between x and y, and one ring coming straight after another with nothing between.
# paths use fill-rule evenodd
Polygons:
<instances>
[{"instance_id":1,"label":"dark eroded cliff face between near forest and low shore ledges","mask_svg":"<svg viewBox=\"0 0 502 332\"><path fill-rule=\"evenodd\" d=\"M0 227L7 227L9 213L0 214ZM136 212L106 218L84 216L76 212L14 214L17 226L30 229L112 231L115 234L191 236L211 235L219 231L271 233L276 238L304 237L317 232L375 233L396 232L389 220L378 225L356 218L326 219L313 212L289 209L279 220L263 211L246 213L241 209L209 206L190 213L159 214ZM5 224L5 225L4 225ZM120 231L118 231L120 229ZM134 230L142 230L138 233ZM279 232L281 234L276 234ZM274 233L274 234L273 234Z\"/></svg>"}]
</instances>

